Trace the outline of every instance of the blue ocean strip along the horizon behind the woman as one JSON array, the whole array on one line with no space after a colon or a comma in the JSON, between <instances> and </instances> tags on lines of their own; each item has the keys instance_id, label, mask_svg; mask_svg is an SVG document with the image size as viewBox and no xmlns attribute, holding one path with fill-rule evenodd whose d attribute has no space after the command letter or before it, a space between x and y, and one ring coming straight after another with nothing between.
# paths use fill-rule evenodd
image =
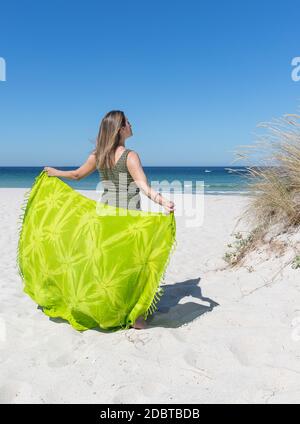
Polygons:
<instances>
[{"instance_id":1,"label":"blue ocean strip along the horizon behind the woman","mask_svg":"<svg viewBox=\"0 0 300 424\"><path fill-rule=\"evenodd\" d=\"M66 171L77 167L57 168ZM156 190L161 187L162 192L163 184L169 183L174 187L174 192L183 190L199 193L204 189L205 194L214 195L249 193L246 178L248 171L239 166L144 166L143 169L151 186ZM0 167L0 187L30 188L42 170L43 167ZM99 190L102 187L98 171L80 181L59 178L74 189Z\"/></svg>"}]
</instances>

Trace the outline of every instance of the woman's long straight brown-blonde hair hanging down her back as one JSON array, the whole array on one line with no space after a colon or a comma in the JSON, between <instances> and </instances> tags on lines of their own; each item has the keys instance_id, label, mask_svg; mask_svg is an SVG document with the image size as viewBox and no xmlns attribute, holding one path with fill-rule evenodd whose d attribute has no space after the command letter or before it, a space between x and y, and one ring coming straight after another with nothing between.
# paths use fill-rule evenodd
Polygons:
<instances>
[{"instance_id":1,"label":"woman's long straight brown-blonde hair hanging down her back","mask_svg":"<svg viewBox=\"0 0 300 424\"><path fill-rule=\"evenodd\" d=\"M125 114L121 110L112 110L102 119L94 150L98 169L111 169L114 166L115 151L121 137L120 129L125 125Z\"/></svg>"}]
</instances>

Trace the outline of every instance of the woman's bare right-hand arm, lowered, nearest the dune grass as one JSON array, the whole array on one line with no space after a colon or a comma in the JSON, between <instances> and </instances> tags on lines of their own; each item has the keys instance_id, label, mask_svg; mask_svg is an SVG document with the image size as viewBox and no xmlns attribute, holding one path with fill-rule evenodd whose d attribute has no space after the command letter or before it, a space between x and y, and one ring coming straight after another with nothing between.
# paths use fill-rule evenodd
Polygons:
<instances>
[{"instance_id":1,"label":"woman's bare right-hand arm, lowered, nearest the dune grass","mask_svg":"<svg viewBox=\"0 0 300 424\"><path fill-rule=\"evenodd\" d=\"M153 202L158 203L159 205L162 205L170 212L174 211L174 202L164 198L159 192L153 190L153 188L149 186L139 155L133 150L127 155L127 168L136 185L147 197L149 197L149 199L153 200Z\"/></svg>"}]
</instances>

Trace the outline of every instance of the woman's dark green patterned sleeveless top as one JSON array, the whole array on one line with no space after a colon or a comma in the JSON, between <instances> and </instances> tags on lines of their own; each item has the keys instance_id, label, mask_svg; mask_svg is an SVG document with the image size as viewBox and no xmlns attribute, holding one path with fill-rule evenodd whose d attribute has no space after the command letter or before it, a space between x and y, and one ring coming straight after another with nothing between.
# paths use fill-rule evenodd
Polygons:
<instances>
[{"instance_id":1,"label":"woman's dark green patterned sleeveless top","mask_svg":"<svg viewBox=\"0 0 300 424\"><path fill-rule=\"evenodd\" d=\"M140 189L128 171L125 149L112 169L98 169L104 191L101 202L115 207L141 210Z\"/></svg>"}]
</instances>

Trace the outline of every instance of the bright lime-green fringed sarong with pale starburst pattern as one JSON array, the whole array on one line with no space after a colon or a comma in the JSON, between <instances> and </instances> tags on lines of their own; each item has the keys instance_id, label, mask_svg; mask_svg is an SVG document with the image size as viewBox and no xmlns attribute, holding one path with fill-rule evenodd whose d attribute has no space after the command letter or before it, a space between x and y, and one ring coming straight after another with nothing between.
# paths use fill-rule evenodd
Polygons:
<instances>
[{"instance_id":1,"label":"bright lime-green fringed sarong with pale starburst pattern","mask_svg":"<svg viewBox=\"0 0 300 424\"><path fill-rule=\"evenodd\" d=\"M46 315L117 331L157 310L177 244L174 213L113 207L44 170L22 210L18 272Z\"/></svg>"}]
</instances>

